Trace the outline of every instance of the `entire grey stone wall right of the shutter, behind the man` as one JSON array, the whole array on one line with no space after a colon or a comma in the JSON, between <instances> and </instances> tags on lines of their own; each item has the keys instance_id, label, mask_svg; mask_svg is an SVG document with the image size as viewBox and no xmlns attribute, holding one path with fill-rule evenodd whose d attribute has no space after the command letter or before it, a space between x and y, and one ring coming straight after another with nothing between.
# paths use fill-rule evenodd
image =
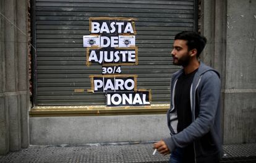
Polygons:
<instances>
[{"instance_id":1,"label":"entire grey stone wall right of the shutter, behind the man","mask_svg":"<svg viewBox=\"0 0 256 163\"><path fill-rule=\"evenodd\" d=\"M221 73L224 143L255 143L256 2L205 0L202 7L202 60Z\"/></svg>"}]
</instances>

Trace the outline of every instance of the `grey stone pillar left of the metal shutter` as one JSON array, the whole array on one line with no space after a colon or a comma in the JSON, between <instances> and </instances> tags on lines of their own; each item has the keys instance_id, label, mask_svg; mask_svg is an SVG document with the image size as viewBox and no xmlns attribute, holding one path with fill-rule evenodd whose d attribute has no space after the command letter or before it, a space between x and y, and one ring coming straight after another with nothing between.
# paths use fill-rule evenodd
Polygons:
<instances>
[{"instance_id":1,"label":"grey stone pillar left of the metal shutter","mask_svg":"<svg viewBox=\"0 0 256 163\"><path fill-rule=\"evenodd\" d=\"M27 0L0 5L0 154L6 154L29 144Z\"/></svg>"}]
</instances>

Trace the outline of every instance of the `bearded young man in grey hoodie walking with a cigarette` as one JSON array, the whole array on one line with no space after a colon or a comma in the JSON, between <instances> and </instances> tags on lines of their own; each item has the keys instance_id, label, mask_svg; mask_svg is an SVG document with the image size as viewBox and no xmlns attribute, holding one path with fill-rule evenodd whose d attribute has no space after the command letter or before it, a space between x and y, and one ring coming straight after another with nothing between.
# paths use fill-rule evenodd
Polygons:
<instances>
[{"instance_id":1,"label":"bearded young man in grey hoodie walking with a cigarette","mask_svg":"<svg viewBox=\"0 0 256 163\"><path fill-rule=\"evenodd\" d=\"M207 40L192 31L174 38L174 65L183 69L171 78L171 107L167 112L169 138L154 144L169 162L220 162L223 154L220 75L198 61Z\"/></svg>"}]
</instances>

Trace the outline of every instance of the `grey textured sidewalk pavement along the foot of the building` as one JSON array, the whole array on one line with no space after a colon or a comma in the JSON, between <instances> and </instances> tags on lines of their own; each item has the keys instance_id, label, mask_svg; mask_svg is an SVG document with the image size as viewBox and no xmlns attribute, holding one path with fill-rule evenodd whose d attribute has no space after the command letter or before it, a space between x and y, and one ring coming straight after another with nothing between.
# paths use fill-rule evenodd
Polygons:
<instances>
[{"instance_id":1,"label":"grey textured sidewalk pavement along the foot of the building","mask_svg":"<svg viewBox=\"0 0 256 163\"><path fill-rule=\"evenodd\" d=\"M221 162L256 162L256 143L224 145ZM30 146L0 156L0 162L163 162L168 156L153 154L153 142L85 144L83 146Z\"/></svg>"}]
</instances>

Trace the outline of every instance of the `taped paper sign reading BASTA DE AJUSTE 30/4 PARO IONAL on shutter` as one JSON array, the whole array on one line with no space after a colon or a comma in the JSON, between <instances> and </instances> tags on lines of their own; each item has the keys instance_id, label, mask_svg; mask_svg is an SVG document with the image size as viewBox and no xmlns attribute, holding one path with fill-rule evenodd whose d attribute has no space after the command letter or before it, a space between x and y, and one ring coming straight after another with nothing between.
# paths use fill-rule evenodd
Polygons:
<instances>
[{"instance_id":1,"label":"taped paper sign reading BASTA DE AJUSTE 30/4 PARO IONAL on shutter","mask_svg":"<svg viewBox=\"0 0 256 163\"><path fill-rule=\"evenodd\" d=\"M106 106L148 106L151 90L137 88L137 75L122 74L122 67L138 65L135 19L93 17L90 35L83 36L87 66L102 65L101 75L90 75L90 93L105 93Z\"/></svg>"}]
</instances>

